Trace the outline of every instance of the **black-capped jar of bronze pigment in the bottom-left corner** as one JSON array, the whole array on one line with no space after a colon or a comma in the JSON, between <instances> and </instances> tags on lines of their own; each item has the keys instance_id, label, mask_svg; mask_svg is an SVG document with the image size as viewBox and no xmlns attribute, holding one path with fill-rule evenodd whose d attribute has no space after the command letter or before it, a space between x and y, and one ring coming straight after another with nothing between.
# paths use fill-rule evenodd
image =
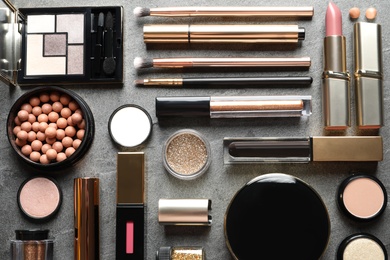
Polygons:
<instances>
[{"instance_id":1,"label":"black-capped jar of bronze pigment in the bottom-left corner","mask_svg":"<svg viewBox=\"0 0 390 260\"><path fill-rule=\"evenodd\" d=\"M15 230L15 234L12 260L53 260L54 239L48 238L49 230Z\"/></svg>"}]
</instances>

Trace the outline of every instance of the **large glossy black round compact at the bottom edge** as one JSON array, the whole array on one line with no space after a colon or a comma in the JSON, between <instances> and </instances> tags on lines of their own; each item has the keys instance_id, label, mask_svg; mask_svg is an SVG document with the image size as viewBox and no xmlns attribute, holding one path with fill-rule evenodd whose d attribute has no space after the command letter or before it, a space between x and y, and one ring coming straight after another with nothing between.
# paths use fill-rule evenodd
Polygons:
<instances>
[{"instance_id":1,"label":"large glossy black round compact at the bottom edge","mask_svg":"<svg viewBox=\"0 0 390 260\"><path fill-rule=\"evenodd\" d=\"M319 259L330 235L328 211L302 180L281 173L249 181L225 214L227 247L235 259Z\"/></svg>"}]
</instances>

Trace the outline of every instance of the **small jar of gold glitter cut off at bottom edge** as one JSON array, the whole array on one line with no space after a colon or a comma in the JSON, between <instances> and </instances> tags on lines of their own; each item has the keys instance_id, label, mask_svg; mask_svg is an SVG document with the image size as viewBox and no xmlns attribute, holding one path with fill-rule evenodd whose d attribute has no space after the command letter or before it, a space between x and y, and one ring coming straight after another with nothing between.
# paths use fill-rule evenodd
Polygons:
<instances>
[{"instance_id":1,"label":"small jar of gold glitter cut off at bottom edge","mask_svg":"<svg viewBox=\"0 0 390 260\"><path fill-rule=\"evenodd\" d=\"M201 246L163 246L157 251L156 260L205 260Z\"/></svg>"}]
</instances>

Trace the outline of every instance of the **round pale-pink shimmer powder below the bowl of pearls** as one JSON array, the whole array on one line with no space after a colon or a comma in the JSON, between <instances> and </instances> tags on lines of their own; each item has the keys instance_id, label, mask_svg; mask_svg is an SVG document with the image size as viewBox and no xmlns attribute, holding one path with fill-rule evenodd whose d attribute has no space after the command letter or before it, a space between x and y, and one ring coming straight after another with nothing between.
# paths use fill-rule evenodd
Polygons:
<instances>
[{"instance_id":1,"label":"round pale-pink shimmer powder below the bowl of pearls","mask_svg":"<svg viewBox=\"0 0 390 260\"><path fill-rule=\"evenodd\" d=\"M19 188L18 205L28 218L47 219L57 213L61 202L61 190L53 179L33 177Z\"/></svg>"}]
</instances>

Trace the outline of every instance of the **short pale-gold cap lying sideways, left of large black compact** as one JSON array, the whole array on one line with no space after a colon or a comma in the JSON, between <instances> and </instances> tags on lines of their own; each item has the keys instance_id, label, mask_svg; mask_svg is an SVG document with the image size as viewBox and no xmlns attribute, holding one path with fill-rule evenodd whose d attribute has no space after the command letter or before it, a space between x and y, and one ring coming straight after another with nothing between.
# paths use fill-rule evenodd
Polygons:
<instances>
[{"instance_id":1,"label":"short pale-gold cap lying sideways, left of large black compact","mask_svg":"<svg viewBox=\"0 0 390 260\"><path fill-rule=\"evenodd\" d=\"M160 199L158 222L163 225L210 226L209 210L209 199Z\"/></svg>"}]
</instances>

